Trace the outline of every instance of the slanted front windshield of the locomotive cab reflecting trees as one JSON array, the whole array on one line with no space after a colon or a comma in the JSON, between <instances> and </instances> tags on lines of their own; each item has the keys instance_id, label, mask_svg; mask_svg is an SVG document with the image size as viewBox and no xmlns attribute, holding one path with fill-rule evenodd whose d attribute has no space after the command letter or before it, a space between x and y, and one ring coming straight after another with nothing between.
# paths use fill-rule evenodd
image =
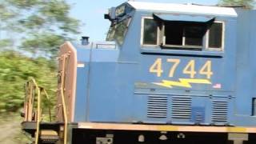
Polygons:
<instances>
[{"instance_id":1,"label":"slanted front windshield of the locomotive cab reflecting trees","mask_svg":"<svg viewBox=\"0 0 256 144\"><path fill-rule=\"evenodd\" d=\"M116 41L119 45L122 45L124 38L126 36L126 31L130 24L130 18L126 18L122 22L112 24L110 30L106 36L106 41Z\"/></svg>"}]
</instances>

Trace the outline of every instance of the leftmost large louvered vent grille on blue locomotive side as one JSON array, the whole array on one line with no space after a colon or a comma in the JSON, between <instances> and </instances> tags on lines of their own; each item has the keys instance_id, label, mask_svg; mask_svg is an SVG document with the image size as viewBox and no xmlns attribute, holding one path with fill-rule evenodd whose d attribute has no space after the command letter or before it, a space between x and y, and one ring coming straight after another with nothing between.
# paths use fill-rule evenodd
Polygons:
<instances>
[{"instance_id":1,"label":"leftmost large louvered vent grille on blue locomotive side","mask_svg":"<svg viewBox=\"0 0 256 144\"><path fill-rule=\"evenodd\" d=\"M149 96L147 99L147 117L166 118L167 99L166 96Z\"/></svg>"}]
</instances>

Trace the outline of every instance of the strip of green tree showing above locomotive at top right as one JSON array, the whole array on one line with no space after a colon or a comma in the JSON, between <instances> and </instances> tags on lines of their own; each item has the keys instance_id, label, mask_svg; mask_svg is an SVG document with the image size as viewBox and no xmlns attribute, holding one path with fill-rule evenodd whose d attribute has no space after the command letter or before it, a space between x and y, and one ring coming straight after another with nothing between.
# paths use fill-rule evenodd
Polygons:
<instances>
[{"instance_id":1,"label":"strip of green tree showing above locomotive at top right","mask_svg":"<svg viewBox=\"0 0 256 144\"><path fill-rule=\"evenodd\" d=\"M254 4L254 0L221 0L219 2L220 6L245 6L246 9L253 9Z\"/></svg>"}]
</instances>

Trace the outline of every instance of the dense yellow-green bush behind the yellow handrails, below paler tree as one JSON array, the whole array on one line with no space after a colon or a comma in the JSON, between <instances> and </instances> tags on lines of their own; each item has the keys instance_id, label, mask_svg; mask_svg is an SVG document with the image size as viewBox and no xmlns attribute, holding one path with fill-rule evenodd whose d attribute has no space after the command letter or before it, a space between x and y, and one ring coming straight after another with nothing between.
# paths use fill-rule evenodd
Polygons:
<instances>
[{"instance_id":1,"label":"dense yellow-green bush behind the yellow handrails, below paler tree","mask_svg":"<svg viewBox=\"0 0 256 144\"><path fill-rule=\"evenodd\" d=\"M15 51L0 54L0 112L17 111L24 102L24 84L28 78L38 80L50 95L57 85L55 63L47 58L27 58Z\"/></svg>"}]
</instances>

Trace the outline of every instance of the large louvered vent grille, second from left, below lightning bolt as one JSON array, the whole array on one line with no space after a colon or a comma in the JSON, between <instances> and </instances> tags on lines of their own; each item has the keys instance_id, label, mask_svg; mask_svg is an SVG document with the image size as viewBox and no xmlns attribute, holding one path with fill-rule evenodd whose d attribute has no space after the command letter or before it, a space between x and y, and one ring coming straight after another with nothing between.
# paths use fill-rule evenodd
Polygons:
<instances>
[{"instance_id":1,"label":"large louvered vent grille, second from left, below lightning bolt","mask_svg":"<svg viewBox=\"0 0 256 144\"><path fill-rule=\"evenodd\" d=\"M191 98L172 98L172 118L191 118Z\"/></svg>"}]
</instances>

